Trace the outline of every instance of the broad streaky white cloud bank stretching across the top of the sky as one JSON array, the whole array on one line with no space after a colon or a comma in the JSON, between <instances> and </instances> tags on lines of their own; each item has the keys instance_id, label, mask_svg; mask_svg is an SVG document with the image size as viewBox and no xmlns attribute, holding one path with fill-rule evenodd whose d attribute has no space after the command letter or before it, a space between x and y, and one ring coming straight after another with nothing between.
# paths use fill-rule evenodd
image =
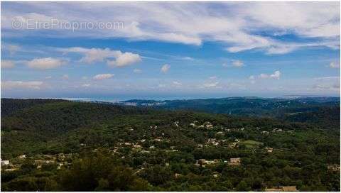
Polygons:
<instances>
[{"instance_id":1,"label":"broad streaky white cloud bank stretching across the top of the sky","mask_svg":"<svg viewBox=\"0 0 341 193\"><path fill-rule=\"evenodd\" d=\"M31 12L4 5L4 27L11 28L11 18L39 18L45 21L124 21L119 30L58 31L57 35L90 36L90 38L127 38L129 40L160 40L172 43L202 45L219 41L229 52L259 49L269 54L284 54L299 48L339 47L340 4L338 2L220 2L197 4L182 2L165 4L112 3L93 4L32 4ZM214 6L213 6L214 5ZM67 11L72 9L72 11ZM102 10L111 11L102 11ZM42 12L44 13L34 13ZM131 10L129 13L122 10ZM228 10L228 11L226 11ZM87 16L91 11L96 15ZM202 23L205 23L203 25ZM23 33L22 31L15 31ZM31 32L31 31L30 31ZM259 33L263 32L263 33ZM13 31L9 32L13 33ZM31 32L32 33L32 32ZM259 35L266 34L266 35ZM271 35L293 34L307 38L306 43L292 45L288 40L276 40ZM318 37L313 40L311 37ZM293 40L294 41L294 40ZM93 56L93 55L92 55ZM94 56L95 57L95 56ZM89 59L91 61L91 59Z\"/></svg>"}]
</instances>

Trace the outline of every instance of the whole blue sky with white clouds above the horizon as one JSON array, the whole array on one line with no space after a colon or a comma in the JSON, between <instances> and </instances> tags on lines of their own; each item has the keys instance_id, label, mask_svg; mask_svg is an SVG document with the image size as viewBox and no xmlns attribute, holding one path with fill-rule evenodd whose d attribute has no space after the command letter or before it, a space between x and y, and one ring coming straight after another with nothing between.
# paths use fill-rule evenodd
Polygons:
<instances>
[{"instance_id":1,"label":"whole blue sky with white clouds above the horizon","mask_svg":"<svg viewBox=\"0 0 341 193\"><path fill-rule=\"evenodd\" d=\"M1 97L340 96L339 2L2 2Z\"/></svg>"}]
</instances>

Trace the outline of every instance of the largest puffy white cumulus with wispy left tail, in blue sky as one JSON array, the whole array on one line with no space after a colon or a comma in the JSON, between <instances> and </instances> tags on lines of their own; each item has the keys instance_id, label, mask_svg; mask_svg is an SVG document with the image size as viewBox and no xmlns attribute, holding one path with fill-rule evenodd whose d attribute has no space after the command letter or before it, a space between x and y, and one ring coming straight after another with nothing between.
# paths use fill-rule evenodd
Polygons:
<instances>
[{"instance_id":1,"label":"largest puffy white cumulus with wispy left tail, in blue sky","mask_svg":"<svg viewBox=\"0 0 341 193\"><path fill-rule=\"evenodd\" d=\"M109 48L60 48L63 53L80 53L84 55L80 62L91 64L94 62L107 61L110 67L125 67L141 61L141 56L135 53L122 53L120 50L110 50Z\"/></svg>"}]
</instances>

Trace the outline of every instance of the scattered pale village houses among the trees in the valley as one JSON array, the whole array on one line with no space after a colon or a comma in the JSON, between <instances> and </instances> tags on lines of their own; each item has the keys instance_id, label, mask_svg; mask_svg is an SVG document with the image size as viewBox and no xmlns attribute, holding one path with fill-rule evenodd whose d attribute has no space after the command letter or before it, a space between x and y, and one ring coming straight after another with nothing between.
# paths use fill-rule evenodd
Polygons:
<instances>
[{"instance_id":1,"label":"scattered pale village houses among the trees in the valley","mask_svg":"<svg viewBox=\"0 0 341 193\"><path fill-rule=\"evenodd\" d=\"M178 129L183 129L180 121L174 121L173 126ZM205 138L205 143L197 143L197 149L205 149L210 147L215 148L226 148L230 150L238 150L239 148L251 150L251 152L255 152L257 150L258 153L264 153L264 155L269 155L271 153L276 153L276 149L268 147L264 145L264 143L256 141L256 140L245 140L243 138L229 137L230 133L233 132L245 132L250 128L224 128L223 126L214 126L209 121L205 121L200 124L199 121L193 121L190 123L189 128L197 129L202 132L210 132L211 137ZM127 128L127 131L134 132L134 128ZM288 132L291 133L293 131L283 131L281 128L273 128L272 131L261 131L260 128L253 128L253 131L259 132L261 135L269 136L271 133L283 133ZM152 133L152 135L146 135L146 133ZM138 153L141 155L148 155L152 153L178 153L179 150L176 145L172 144L171 138L163 133L163 129L159 126L148 126L144 130L144 136L139 138L139 140L131 141L131 140L123 140L119 139L113 147L107 148L109 153L112 155L121 158L122 160L126 159L127 154L123 153L122 150L129 150L129 156L132 153ZM148 136L148 137L147 137ZM213 137L213 138L212 138ZM163 144L163 145L161 145ZM166 144L166 145L165 145ZM87 144L80 143L81 148L88 148ZM103 150L105 148L98 147L93 148L92 152L97 152L99 150ZM281 151L281 150L278 150ZM48 165L53 165L55 170L61 170L62 168L68 168L72 165L72 161L79 158L78 153L58 153L54 155L31 155L27 156L26 154L18 155L18 157L13 158L12 160L1 160L1 171L5 172L14 172L21 169L21 165L25 160L31 160L33 165L36 167L36 170L44 170L44 167ZM170 163L164 163L165 167L169 167ZM229 167L242 167L243 158L235 157L229 159L205 159L199 158L193 162L195 167L199 168L210 168L215 167L215 165L227 165ZM141 165L138 167L134 173L138 174L146 170L148 165ZM328 170L333 172L340 171L340 165L328 165ZM212 172L212 177L218 178L220 177L220 172ZM182 174L175 172L175 179L183 177ZM281 186L281 187L266 187L264 189L266 192L295 192L297 191L296 186Z\"/></svg>"}]
</instances>

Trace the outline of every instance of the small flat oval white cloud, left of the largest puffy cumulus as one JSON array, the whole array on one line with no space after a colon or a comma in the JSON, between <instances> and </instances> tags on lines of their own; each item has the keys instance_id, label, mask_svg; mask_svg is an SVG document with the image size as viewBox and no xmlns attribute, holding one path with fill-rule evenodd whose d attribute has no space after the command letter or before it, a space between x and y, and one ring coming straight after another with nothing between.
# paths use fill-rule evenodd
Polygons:
<instances>
[{"instance_id":1,"label":"small flat oval white cloud, left of the largest puffy cumulus","mask_svg":"<svg viewBox=\"0 0 341 193\"><path fill-rule=\"evenodd\" d=\"M64 65L63 60L55 59L52 57L36 58L31 61L26 62L26 65L31 68L38 70L48 70Z\"/></svg>"}]
</instances>

